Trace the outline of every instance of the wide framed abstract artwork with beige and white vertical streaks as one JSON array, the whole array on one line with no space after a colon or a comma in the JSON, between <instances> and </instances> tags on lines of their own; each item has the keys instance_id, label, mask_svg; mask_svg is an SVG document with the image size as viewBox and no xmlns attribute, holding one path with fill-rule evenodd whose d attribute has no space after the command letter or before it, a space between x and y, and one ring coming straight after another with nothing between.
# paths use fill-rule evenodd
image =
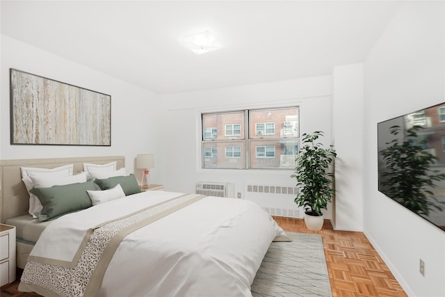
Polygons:
<instances>
[{"instance_id":1,"label":"wide framed abstract artwork with beige and white vertical streaks","mask_svg":"<svg viewBox=\"0 0 445 297\"><path fill-rule=\"evenodd\" d=\"M10 142L111 146L111 96L11 68Z\"/></svg>"}]
</instances>

